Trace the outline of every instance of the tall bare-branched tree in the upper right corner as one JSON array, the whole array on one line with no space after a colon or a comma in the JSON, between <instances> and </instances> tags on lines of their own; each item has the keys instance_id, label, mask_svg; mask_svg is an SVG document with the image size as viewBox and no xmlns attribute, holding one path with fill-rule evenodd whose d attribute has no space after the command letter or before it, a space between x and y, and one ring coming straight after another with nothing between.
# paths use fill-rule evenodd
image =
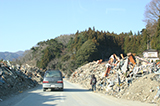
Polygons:
<instances>
[{"instance_id":1,"label":"tall bare-branched tree in the upper right corner","mask_svg":"<svg viewBox=\"0 0 160 106\"><path fill-rule=\"evenodd\" d=\"M144 16L146 29L148 30L150 37L152 37L155 34L158 18L160 16L160 0L151 0L151 2L146 5Z\"/></svg>"}]
</instances>

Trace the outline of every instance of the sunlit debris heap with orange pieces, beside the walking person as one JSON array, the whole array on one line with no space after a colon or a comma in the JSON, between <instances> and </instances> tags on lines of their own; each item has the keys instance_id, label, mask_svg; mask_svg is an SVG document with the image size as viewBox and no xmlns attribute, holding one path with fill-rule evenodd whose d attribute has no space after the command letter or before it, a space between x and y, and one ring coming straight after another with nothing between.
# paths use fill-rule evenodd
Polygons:
<instances>
[{"instance_id":1,"label":"sunlit debris heap with orange pieces, beside the walking person","mask_svg":"<svg viewBox=\"0 0 160 106\"><path fill-rule=\"evenodd\" d=\"M113 56L111 56L112 58ZM128 53L121 59L90 62L76 69L69 80L91 89L91 75L97 78L96 92L149 103L160 103L160 63Z\"/></svg>"}]
</instances>

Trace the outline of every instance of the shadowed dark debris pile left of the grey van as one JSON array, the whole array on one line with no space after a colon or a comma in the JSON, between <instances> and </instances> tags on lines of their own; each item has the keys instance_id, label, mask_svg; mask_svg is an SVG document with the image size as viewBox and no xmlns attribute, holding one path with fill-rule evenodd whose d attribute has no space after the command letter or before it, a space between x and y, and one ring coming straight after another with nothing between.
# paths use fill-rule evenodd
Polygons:
<instances>
[{"instance_id":1,"label":"shadowed dark debris pile left of the grey van","mask_svg":"<svg viewBox=\"0 0 160 106\"><path fill-rule=\"evenodd\" d=\"M36 87L42 82L43 74L44 72L37 67L20 67L9 62L0 62L0 102L13 94Z\"/></svg>"}]
</instances>

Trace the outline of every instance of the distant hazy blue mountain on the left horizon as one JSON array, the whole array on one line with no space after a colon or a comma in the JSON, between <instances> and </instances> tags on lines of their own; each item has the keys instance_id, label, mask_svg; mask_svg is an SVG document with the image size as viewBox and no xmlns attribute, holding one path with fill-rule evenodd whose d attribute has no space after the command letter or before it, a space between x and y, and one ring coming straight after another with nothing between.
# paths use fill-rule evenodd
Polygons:
<instances>
[{"instance_id":1,"label":"distant hazy blue mountain on the left horizon","mask_svg":"<svg viewBox=\"0 0 160 106\"><path fill-rule=\"evenodd\" d=\"M0 52L0 59L3 60L10 60L12 61L13 59L17 59L20 56L23 56L23 51L18 51L18 52Z\"/></svg>"}]
</instances>

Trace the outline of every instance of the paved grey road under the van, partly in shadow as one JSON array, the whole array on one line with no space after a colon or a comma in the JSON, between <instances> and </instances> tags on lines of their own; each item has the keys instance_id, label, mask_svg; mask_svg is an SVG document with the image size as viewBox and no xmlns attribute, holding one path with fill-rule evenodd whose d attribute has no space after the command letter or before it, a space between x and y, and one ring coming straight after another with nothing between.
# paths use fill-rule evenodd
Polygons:
<instances>
[{"instance_id":1,"label":"paved grey road under the van, partly in shadow","mask_svg":"<svg viewBox=\"0 0 160 106\"><path fill-rule=\"evenodd\" d=\"M141 102L117 99L93 93L78 84L64 81L64 91L42 91L42 86L16 95L0 106L156 106Z\"/></svg>"}]
</instances>

